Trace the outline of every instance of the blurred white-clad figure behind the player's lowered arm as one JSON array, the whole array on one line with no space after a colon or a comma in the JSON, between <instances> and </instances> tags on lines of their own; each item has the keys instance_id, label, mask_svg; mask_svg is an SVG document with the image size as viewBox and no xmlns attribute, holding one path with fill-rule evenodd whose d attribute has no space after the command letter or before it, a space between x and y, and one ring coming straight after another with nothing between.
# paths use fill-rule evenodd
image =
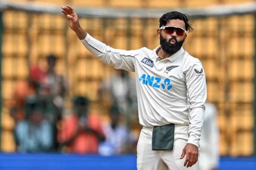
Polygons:
<instances>
[{"instance_id":1,"label":"blurred white-clad figure behind the player's lowered arm","mask_svg":"<svg viewBox=\"0 0 256 170\"><path fill-rule=\"evenodd\" d=\"M219 165L219 128L216 107L206 102L200 140L199 170L216 170Z\"/></svg>"}]
</instances>

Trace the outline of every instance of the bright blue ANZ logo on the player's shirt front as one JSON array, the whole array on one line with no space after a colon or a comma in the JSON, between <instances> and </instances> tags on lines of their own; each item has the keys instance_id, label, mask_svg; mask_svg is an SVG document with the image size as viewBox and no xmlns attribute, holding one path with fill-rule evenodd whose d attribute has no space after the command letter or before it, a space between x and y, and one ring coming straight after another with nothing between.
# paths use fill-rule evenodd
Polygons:
<instances>
[{"instance_id":1,"label":"bright blue ANZ logo on the player's shirt front","mask_svg":"<svg viewBox=\"0 0 256 170\"><path fill-rule=\"evenodd\" d=\"M139 78L139 82L142 82L143 85L149 85L154 88L162 88L163 90L170 90L172 88L170 79L165 79L162 81L160 77L149 76L146 74L143 74Z\"/></svg>"}]
</instances>

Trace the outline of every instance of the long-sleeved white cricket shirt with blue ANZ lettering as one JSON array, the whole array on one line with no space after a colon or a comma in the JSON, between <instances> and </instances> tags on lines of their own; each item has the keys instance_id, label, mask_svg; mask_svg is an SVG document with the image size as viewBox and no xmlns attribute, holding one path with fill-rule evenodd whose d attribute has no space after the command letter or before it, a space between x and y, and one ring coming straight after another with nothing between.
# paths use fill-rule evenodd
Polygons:
<instances>
[{"instance_id":1,"label":"long-sleeved white cricket shirt with blue ANZ lettering","mask_svg":"<svg viewBox=\"0 0 256 170\"><path fill-rule=\"evenodd\" d=\"M202 63L183 48L166 59L148 48L114 49L89 34L83 45L99 60L135 72L139 123L154 127L170 123L188 125L187 143L199 146L206 101Z\"/></svg>"}]
</instances>

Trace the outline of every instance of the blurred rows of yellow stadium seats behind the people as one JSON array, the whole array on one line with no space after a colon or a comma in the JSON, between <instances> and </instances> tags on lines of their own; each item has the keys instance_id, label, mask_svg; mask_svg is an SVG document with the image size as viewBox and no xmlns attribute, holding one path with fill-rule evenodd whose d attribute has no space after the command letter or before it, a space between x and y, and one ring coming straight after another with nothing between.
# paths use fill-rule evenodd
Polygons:
<instances>
[{"instance_id":1,"label":"blurred rows of yellow stadium seats behind the people","mask_svg":"<svg viewBox=\"0 0 256 170\"><path fill-rule=\"evenodd\" d=\"M12 2L30 2L12 0ZM170 11L183 7L205 8L217 4L238 4L253 0L36 0L33 2L74 7L165 8ZM161 17L161 16L159 16ZM218 108L221 155L249 156L253 153L254 115L254 22L253 14L228 17L206 17L192 20L193 32L187 34L184 49L202 61L207 79L207 100ZM3 12L2 97L11 98L16 82L28 75L28 63L45 62L55 54L58 73L68 77L70 96L82 94L100 106L98 89L115 70L101 63L84 48L69 29L61 14L28 14L23 11ZM80 17L80 24L90 35L114 48L154 49L158 19ZM27 60L29 58L29 60ZM45 64L45 63L44 63ZM132 73L134 76L134 73ZM69 96L69 97L70 97ZM70 102L70 101L69 101ZM67 102L68 103L68 102ZM107 106L107 104L105 104ZM4 121L4 122L3 122ZM8 108L2 111L3 151L14 150L12 120ZM138 123L133 131L139 133ZM255 142L254 142L255 143Z\"/></svg>"}]
</instances>

